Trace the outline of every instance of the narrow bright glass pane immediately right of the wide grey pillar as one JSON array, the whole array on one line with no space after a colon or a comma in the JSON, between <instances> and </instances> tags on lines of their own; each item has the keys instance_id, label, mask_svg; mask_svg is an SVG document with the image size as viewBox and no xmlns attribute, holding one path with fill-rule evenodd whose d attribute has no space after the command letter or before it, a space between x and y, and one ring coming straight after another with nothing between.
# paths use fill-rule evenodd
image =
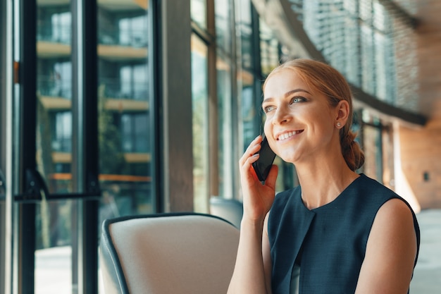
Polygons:
<instances>
[{"instance_id":1,"label":"narrow bright glass pane immediately right of the wide grey pillar","mask_svg":"<svg viewBox=\"0 0 441 294\"><path fill-rule=\"evenodd\" d=\"M194 211L209 212L208 48L192 35L192 111Z\"/></svg>"}]
</instances>

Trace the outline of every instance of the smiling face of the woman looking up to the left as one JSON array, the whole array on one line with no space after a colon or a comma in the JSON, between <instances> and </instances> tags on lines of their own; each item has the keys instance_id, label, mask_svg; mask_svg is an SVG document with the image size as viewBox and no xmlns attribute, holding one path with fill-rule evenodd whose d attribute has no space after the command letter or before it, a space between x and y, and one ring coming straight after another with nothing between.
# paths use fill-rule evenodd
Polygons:
<instances>
[{"instance_id":1,"label":"smiling face of the woman looking up to the left","mask_svg":"<svg viewBox=\"0 0 441 294\"><path fill-rule=\"evenodd\" d=\"M292 70L282 69L266 81L263 111L265 135L283 160L297 164L320 160L340 148L335 128L338 108Z\"/></svg>"}]
</instances>

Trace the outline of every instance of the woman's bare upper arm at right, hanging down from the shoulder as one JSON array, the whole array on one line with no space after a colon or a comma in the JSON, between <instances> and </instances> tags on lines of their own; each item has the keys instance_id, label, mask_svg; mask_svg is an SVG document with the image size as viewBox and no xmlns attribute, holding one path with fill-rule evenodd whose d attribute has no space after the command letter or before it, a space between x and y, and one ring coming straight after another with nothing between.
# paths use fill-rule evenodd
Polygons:
<instances>
[{"instance_id":1,"label":"woman's bare upper arm at right, hanging down from the shoulder","mask_svg":"<svg viewBox=\"0 0 441 294\"><path fill-rule=\"evenodd\" d=\"M378 210L361 265L356 294L406 294L416 258L414 219L399 199Z\"/></svg>"}]
</instances>

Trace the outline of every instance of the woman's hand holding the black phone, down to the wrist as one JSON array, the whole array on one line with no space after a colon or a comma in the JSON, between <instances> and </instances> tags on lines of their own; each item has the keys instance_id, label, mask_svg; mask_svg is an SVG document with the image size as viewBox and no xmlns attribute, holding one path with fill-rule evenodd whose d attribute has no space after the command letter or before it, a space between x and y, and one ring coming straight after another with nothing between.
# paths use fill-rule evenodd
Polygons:
<instances>
[{"instance_id":1,"label":"woman's hand holding the black phone, down to the wrist","mask_svg":"<svg viewBox=\"0 0 441 294\"><path fill-rule=\"evenodd\" d=\"M278 167L275 165L271 167L265 184L257 178L252 164L259 159L259 154L256 152L261 149L261 142L262 137L259 135L250 143L239 161L239 168L244 202L243 219L263 222L274 201Z\"/></svg>"}]
</instances>

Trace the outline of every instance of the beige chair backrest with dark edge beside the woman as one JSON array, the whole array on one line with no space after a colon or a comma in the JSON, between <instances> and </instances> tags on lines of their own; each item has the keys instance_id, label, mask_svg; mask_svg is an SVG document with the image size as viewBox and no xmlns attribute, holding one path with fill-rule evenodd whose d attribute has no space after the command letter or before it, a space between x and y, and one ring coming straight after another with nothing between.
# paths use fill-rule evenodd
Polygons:
<instances>
[{"instance_id":1,"label":"beige chair backrest with dark edge beside the woman","mask_svg":"<svg viewBox=\"0 0 441 294\"><path fill-rule=\"evenodd\" d=\"M209 214L107 219L99 264L106 294L226 293L239 231Z\"/></svg>"}]
</instances>

